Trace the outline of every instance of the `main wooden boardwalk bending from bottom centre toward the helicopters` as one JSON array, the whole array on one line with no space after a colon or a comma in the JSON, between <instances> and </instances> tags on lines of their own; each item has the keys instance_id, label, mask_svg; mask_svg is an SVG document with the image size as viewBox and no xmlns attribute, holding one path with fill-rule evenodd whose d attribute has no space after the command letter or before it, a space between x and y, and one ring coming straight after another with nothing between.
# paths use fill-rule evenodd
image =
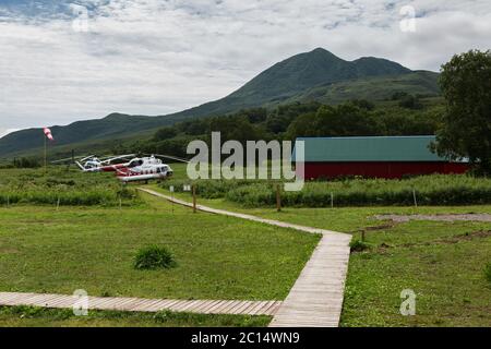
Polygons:
<instances>
[{"instance_id":1,"label":"main wooden boardwalk bending from bottom centre toward the helicopters","mask_svg":"<svg viewBox=\"0 0 491 349\"><path fill-rule=\"evenodd\" d=\"M176 204L192 207L191 203L153 190L139 190L163 197ZM343 310L345 280L349 262L351 236L336 231L264 219L252 215L216 209L202 205L202 212L248 219L282 228L320 233L322 239L310 261L301 272L288 297L279 305L270 326L272 327L337 327Z\"/></svg>"}]
</instances>

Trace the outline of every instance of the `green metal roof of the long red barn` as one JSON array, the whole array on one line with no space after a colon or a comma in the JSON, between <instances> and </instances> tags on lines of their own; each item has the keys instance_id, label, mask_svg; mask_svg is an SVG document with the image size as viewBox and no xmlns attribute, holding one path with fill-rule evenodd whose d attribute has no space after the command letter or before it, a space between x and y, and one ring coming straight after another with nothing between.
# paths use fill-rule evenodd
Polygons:
<instances>
[{"instance_id":1,"label":"green metal roof of the long red barn","mask_svg":"<svg viewBox=\"0 0 491 349\"><path fill-rule=\"evenodd\" d=\"M431 153L435 136L302 137L306 163L446 161ZM294 151L295 158L295 151Z\"/></svg>"}]
</instances>

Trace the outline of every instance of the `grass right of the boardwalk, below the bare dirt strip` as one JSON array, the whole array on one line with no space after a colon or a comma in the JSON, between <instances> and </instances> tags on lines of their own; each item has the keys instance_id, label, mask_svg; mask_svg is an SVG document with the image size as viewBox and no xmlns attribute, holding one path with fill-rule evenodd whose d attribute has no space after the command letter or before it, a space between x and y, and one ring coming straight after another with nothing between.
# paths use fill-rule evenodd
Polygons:
<instances>
[{"instance_id":1,"label":"grass right of the boardwalk, below the bare dirt strip","mask_svg":"<svg viewBox=\"0 0 491 349\"><path fill-rule=\"evenodd\" d=\"M490 326L490 224L434 221L370 232L371 248L350 257L342 324ZM417 294L416 316L399 313L404 289Z\"/></svg>"}]
</instances>

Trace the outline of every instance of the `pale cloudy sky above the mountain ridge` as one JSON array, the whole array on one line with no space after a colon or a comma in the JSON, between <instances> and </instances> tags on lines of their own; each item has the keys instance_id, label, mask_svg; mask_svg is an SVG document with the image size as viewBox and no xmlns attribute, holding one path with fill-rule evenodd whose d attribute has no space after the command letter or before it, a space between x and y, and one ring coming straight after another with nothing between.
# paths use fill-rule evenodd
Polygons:
<instances>
[{"instance_id":1,"label":"pale cloudy sky above the mountain ridge","mask_svg":"<svg viewBox=\"0 0 491 349\"><path fill-rule=\"evenodd\" d=\"M0 1L0 128L179 111L315 47L439 70L489 33L488 0Z\"/></svg>"}]
</instances>

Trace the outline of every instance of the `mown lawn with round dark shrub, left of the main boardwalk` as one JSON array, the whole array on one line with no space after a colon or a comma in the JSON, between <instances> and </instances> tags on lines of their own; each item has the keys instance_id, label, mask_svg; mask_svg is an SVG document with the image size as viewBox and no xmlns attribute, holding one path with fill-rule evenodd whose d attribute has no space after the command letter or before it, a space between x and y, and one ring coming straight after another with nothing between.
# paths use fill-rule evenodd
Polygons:
<instances>
[{"instance_id":1,"label":"mown lawn with round dark shrub, left of the main boardwalk","mask_svg":"<svg viewBox=\"0 0 491 349\"><path fill-rule=\"evenodd\" d=\"M171 206L0 208L0 290L177 299L282 300L320 237ZM178 267L136 270L169 248Z\"/></svg>"}]
</instances>

